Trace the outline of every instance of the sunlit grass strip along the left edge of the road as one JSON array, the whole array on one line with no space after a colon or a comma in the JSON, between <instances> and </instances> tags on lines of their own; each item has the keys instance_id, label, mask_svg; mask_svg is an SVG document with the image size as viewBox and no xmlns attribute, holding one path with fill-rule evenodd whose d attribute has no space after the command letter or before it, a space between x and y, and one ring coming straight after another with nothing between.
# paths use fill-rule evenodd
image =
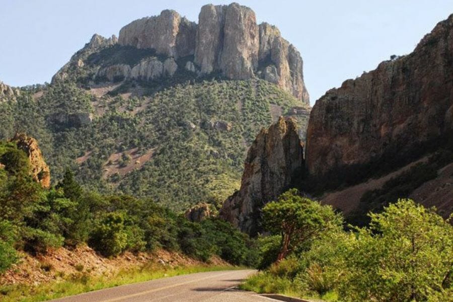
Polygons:
<instances>
[{"instance_id":1,"label":"sunlit grass strip along the left edge of the road","mask_svg":"<svg viewBox=\"0 0 453 302\"><path fill-rule=\"evenodd\" d=\"M60 281L39 285L9 285L0 286L0 300L3 302L22 301L34 302L61 298L83 292L99 290L119 285L155 280L164 277L173 277L185 274L234 270L235 266L185 266L166 268L162 265L150 264L141 268L121 270L113 276L90 276L86 272L79 272L66 276Z\"/></svg>"}]
</instances>

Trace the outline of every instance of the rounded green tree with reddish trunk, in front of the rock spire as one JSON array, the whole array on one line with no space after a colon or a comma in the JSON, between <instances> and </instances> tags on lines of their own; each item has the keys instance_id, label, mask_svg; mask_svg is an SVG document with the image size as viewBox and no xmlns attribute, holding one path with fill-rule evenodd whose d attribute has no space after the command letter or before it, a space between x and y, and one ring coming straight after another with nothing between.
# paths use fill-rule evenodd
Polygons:
<instances>
[{"instance_id":1,"label":"rounded green tree with reddish trunk, in front of the rock spire","mask_svg":"<svg viewBox=\"0 0 453 302\"><path fill-rule=\"evenodd\" d=\"M341 223L331 206L300 196L297 189L281 194L277 201L263 208L265 228L272 234L281 235L277 262L285 258L295 247L307 243L330 225Z\"/></svg>"}]
</instances>

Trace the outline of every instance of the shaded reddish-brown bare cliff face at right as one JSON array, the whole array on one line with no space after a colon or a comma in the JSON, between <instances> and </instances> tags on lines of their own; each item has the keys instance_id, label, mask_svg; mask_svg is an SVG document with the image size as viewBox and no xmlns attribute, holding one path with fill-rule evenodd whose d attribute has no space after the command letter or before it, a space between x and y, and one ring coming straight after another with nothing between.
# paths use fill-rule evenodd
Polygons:
<instances>
[{"instance_id":1,"label":"shaded reddish-brown bare cliff face at right","mask_svg":"<svg viewBox=\"0 0 453 302\"><path fill-rule=\"evenodd\" d=\"M404 163L452 137L453 15L415 50L316 102L307 134L311 175ZM349 173L354 173L349 169Z\"/></svg>"}]
</instances>

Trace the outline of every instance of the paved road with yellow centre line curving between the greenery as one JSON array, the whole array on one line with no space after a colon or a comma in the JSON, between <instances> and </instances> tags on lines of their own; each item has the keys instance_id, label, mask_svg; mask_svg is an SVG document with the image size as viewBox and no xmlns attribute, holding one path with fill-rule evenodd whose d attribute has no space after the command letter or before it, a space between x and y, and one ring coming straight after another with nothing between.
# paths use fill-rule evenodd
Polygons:
<instances>
[{"instance_id":1,"label":"paved road with yellow centre line curving between the greenery","mask_svg":"<svg viewBox=\"0 0 453 302\"><path fill-rule=\"evenodd\" d=\"M276 301L235 289L254 270L217 271L163 278L92 291L52 301L59 302L269 302Z\"/></svg>"}]
</instances>

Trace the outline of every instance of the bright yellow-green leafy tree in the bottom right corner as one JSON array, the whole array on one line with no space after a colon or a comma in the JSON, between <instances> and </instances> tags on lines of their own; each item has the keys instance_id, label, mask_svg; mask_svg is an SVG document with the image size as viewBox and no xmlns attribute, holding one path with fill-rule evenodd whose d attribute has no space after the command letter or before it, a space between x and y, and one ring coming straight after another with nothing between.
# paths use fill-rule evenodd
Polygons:
<instances>
[{"instance_id":1,"label":"bright yellow-green leafy tree in the bottom right corner","mask_svg":"<svg viewBox=\"0 0 453 302\"><path fill-rule=\"evenodd\" d=\"M342 295L360 301L446 301L451 297L453 227L410 199L371 213L345 257Z\"/></svg>"}]
</instances>

